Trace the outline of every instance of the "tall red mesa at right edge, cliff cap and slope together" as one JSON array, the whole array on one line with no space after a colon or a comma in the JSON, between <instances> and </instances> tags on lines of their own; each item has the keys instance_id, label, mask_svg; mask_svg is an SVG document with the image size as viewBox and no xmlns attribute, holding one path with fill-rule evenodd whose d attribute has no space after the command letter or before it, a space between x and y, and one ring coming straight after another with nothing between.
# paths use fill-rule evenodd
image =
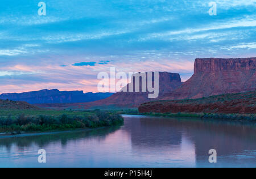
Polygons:
<instances>
[{"instance_id":1,"label":"tall red mesa at right edge, cliff cap and slope together","mask_svg":"<svg viewBox=\"0 0 256 179\"><path fill-rule=\"evenodd\" d=\"M195 99L256 89L256 58L197 58L193 76L162 99Z\"/></svg>"}]
</instances>

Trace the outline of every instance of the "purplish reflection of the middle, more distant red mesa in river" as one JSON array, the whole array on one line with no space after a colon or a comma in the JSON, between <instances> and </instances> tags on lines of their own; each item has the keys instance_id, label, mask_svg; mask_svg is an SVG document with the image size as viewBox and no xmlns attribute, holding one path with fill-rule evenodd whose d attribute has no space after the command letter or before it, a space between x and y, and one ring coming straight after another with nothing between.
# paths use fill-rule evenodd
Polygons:
<instances>
[{"instance_id":1,"label":"purplish reflection of the middle, more distant red mesa in river","mask_svg":"<svg viewBox=\"0 0 256 179\"><path fill-rule=\"evenodd\" d=\"M130 133L133 148L172 148L181 143L182 128L175 125L179 121L143 117L125 122L123 129Z\"/></svg>"}]
</instances>

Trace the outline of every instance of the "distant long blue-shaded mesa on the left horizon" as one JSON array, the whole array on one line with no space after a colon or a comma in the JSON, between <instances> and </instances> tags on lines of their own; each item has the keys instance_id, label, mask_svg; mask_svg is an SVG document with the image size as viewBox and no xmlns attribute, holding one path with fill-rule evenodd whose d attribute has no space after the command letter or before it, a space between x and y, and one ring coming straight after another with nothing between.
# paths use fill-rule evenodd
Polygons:
<instances>
[{"instance_id":1,"label":"distant long blue-shaded mesa on the left horizon","mask_svg":"<svg viewBox=\"0 0 256 179\"><path fill-rule=\"evenodd\" d=\"M113 93L84 93L83 91L40 90L24 93L3 93L0 99L26 101L30 104L82 103L96 101L113 95Z\"/></svg>"}]
</instances>

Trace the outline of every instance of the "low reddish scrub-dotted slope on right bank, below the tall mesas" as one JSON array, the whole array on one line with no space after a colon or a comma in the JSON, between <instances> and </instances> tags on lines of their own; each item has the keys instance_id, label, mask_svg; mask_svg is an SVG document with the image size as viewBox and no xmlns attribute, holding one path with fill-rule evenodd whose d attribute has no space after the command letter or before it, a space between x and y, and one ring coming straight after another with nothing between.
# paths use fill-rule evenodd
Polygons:
<instances>
[{"instance_id":1,"label":"low reddish scrub-dotted slope on right bank, below the tall mesas","mask_svg":"<svg viewBox=\"0 0 256 179\"><path fill-rule=\"evenodd\" d=\"M139 106L139 112L255 114L255 104L256 91L251 91L201 99L152 101Z\"/></svg>"}]
</instances>

